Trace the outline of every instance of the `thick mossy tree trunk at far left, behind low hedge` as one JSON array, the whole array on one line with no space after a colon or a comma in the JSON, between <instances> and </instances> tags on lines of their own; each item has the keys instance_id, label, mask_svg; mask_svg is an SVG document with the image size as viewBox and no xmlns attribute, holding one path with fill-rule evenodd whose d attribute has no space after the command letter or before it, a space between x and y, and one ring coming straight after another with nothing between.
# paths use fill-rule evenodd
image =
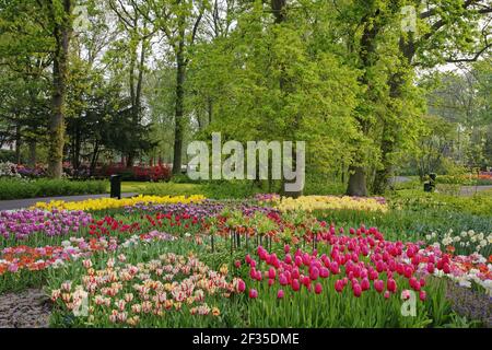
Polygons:
<instances>
[{"instance_id":1,"label":"thick mossy tree trunk at far left, behind low hedge","mask_svg":"<svg viewBox=\"0 0 492 350\"><path fill-rule=\"evenodd\" d=\"M58 20L56 9L51 9L55 19L54 37L56 49L52 62L52 114L49 121L48 175L61 178L65 145L65 98L70 44L71 0L63 0L63 15Z\"/></svg>"}]
</instances>

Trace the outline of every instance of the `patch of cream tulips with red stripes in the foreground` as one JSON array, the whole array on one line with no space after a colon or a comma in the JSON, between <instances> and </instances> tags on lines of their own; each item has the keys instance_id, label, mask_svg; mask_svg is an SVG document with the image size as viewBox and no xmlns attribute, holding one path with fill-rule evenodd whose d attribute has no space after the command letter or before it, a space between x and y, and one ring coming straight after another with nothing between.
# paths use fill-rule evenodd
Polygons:
<instances>
[{"instance_id":1,"label":"patch of cream tulips with red stripes in the foreground","mask_svg":"<svg viewBox=\"0 0 492 350\"><path fill-rule=\"evenodd\" d=\"M84 260L80 284L62 282L51 291L51 300L79 313L84 298L91 300L86 314L73 319L75 325L203 327L220 325L218 305L244 291L242 280L227 281L226 267L214 271L195 256L168 253L148 262L126 260L121 254L97 270L92 260Z\"/></svg>"}]
</instances>

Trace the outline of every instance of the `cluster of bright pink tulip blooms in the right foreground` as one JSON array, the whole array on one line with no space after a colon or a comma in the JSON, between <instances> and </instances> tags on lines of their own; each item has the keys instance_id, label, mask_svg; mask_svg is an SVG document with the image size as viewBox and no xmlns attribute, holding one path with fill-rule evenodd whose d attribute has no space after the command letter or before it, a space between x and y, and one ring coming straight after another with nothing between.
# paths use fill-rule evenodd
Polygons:
<instances>
[{"instance_id":1,"label":"cluster of bright pink tulip blooms in the right foreground","mask_svg":"<svg viewBox=\"0 0 492 350\"><path fill-rule=\"evenodd\" d=\"M245 258L250 279L266 279L270 287L278 283L282 289L291 288L294 292L305 288L320 294L323 280L332 276L336 277L333 288L339 293L350 289L359 298L375 290L388 299L408 285L423 301L426 299L424 277L435 271L450 271L449 255L432 247L421 249L414 243L385 241L375 228L366 230L361 226L351 229L350 235L338 235L330 226L319 238L331 246L329 255L319 256L316 249L313 253L302 249L292 253L291 247L285 245L284 256L280 258L258 247L258 260L249 255ZM284 291L280 290L278 298L283 295ZM258 292L249 290L249 296L255 299Z\"/></svg>"}]
</instances>

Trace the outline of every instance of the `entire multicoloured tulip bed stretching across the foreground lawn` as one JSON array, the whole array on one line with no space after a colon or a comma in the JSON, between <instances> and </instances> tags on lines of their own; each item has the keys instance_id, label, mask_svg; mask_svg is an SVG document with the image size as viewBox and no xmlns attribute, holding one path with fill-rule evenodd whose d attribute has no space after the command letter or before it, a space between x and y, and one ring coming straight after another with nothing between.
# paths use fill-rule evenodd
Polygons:
<instances>
[{"instance_id":1,"label":"entire multicoloured tulip bed stretching across the foreground lawn","mask_svg":"<svg viewBox=\"0 0 492 350\"><path fill-rule=\"evenodd\" d=\"M394 214L383 199L145 196L36 207L0 212L0 292L43 287L55 327L490 324L490 308L465 313L447 298L462 288L470 305L491 304L490 234L386 235L363 224ZM405 315L413 298L415 314Z\"/></svg>"}]
</instances>

